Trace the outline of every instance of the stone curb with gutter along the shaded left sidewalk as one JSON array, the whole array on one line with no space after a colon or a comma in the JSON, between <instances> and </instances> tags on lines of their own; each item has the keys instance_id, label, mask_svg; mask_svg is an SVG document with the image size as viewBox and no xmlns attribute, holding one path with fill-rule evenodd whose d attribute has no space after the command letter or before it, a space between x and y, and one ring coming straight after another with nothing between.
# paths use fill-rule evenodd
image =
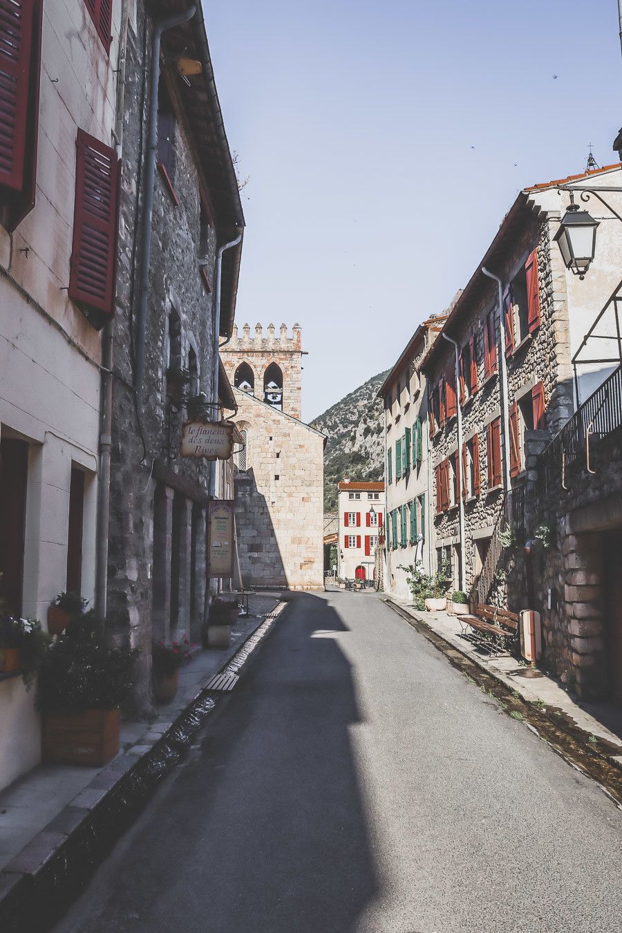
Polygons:
<instances>
[{"instance_id":1,"label":"stone curb with gutter along the shaded left sidewalk","mask_svg":"<svg viewBox=\"0 0 622 933\"><path fill-rule=\"evenodd\" d=\"M35 933L48 928L139 814L159 780L171 771L216 706L206 685L244 648L257 629L275 621L290 606L281 601L235 648L229 648L217 671L193 688L184 710L151 745L134 746L97 774L76 798L37 833L0 871L0 930ZM254 651L241 672L253 660ZM140 754L136 754L139 749ZM144 750L143 750L144 749Z\"/></svg>"}]
</instances>

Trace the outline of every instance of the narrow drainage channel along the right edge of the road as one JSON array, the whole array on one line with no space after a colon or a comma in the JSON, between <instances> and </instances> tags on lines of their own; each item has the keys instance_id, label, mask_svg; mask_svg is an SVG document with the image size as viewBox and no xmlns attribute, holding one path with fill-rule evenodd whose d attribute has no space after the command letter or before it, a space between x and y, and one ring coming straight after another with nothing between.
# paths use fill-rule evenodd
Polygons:
<instances>
[{"instance_id":1,"label":"narrow drainage channel along the right edge of the road","mask_svg":"<svg viewBox=\"0 0 622 933\"><path fill-rule=\"evenodd\" d=\"M452 667L499 703L508 716L524 722L561 758L596 781L607 797L622 810L622 770L607 758L610 755L619 755L617 746L597 736L587 735L560 709L550 706L543 708L540 703L525 700L517 690L506 687L503 682L483 670L458 648L453 648L449 642L401 606L396 606L389 599L383 599L382 602L393 609L411 628L422 634L436 650L444 654Z\"/></svg>"}]
</instances>

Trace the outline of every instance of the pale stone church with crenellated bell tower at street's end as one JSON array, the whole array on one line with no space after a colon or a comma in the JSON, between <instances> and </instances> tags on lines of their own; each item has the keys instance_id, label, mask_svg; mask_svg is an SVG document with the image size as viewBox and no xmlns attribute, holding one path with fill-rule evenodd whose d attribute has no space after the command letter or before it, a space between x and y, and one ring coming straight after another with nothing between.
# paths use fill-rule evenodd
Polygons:
<instances>
[{"instance_id":1,"label":"pale stone church with crenellated bell tower at street's end","mask_svg":"<svg viewBox=\"0 0 622 933\"><path fill-rule=\"evenodd\" d=\"M235 477L236 532L245 588L324 587L325 437L300 417L301 335L237 327L221 359L234 385L244 441Z\"/></svg>"}]
</instances>

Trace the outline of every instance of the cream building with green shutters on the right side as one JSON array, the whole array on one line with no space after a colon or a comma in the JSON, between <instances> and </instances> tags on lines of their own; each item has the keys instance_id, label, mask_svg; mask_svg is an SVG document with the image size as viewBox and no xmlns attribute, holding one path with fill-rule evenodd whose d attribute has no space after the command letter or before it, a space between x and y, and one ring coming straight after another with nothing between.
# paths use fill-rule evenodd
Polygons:
<instances>
[{"instance_id":1,"label":"cream building with green shutters on the right side","mask_svg":"<svg viewBox=\"0 0 622 933\"><path fill-rule=\"evenodd\" d=\"M408 571L433 572L427 385L423 356L437 338L446 314L417 327L380 386L384 404L386 535L384 590L408 599Z\"/></svg>"}]
</instances>

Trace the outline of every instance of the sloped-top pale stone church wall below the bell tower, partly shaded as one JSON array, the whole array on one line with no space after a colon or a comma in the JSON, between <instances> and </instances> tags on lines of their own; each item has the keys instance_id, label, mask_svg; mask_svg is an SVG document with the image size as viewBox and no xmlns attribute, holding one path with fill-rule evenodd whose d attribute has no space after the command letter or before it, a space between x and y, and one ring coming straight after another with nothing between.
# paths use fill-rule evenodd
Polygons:
<instances>
[{"instance_id":1,"label":"sloped-top pale stone church wall below the bell tower, partly shaded","mask_svg":"<svg viewBox=\"0 0 622 933\"><path fill-rule=\"evenodd\" d=\"M246 432L236 527L245 587L324 587L324 437L239 390L234 417Z\"/></svg>"}]
</instances>

